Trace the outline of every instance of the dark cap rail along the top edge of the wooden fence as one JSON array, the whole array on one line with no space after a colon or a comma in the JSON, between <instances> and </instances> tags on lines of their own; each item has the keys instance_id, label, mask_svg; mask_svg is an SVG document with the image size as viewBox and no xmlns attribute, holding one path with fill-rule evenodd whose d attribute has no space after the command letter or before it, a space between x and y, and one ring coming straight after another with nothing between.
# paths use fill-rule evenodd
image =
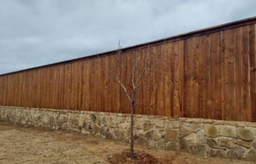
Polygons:
<instances>
[{"instance_id":1,"label":"dark cap rail along the top edge of the wooden fence","mask_svg":"<svg viewBox=\"0 0 256 164\"><path fill-rule=\"evenodd\" d=\"M179 34L179 35L174 35L174 36L171 36L171 37L165 37L165 38L162 38L162 39L153 40L153 41L149 41L149 42L146 42L146 43L140 43L140 44L137 44L137 45L134 45L134 46L124 47L121 50L124 51L124 50L128 50L128 49L136 49L136 48L141 47L141 46L148 46L148 45L153 44L153 43L166 42L167 40L172 40L172 39L176 39L176 38L179 38L179 37L186 38L186 37L192 37L194 35L200 35L200 34L204 35L205 32L206 33L218 32L218 31L221 31L221 30L223 30L223 29L225 29L226 27L229 27L229 26L237 27L236 25L244 26L244 25L249 25L249 24L253 24L253 23L256 23L256 16L246 18L246 19L242 19L242 20L236 20L236 21L233 21L233 22L230 22L230 23L220 24L220 25L217 25L217 26L211 26L211 27L207 27L207 28L204 28L204 29L195 30L195 31L192 31L192 32L186 32L186 33ZM233 27L233 28L235 28L235 27ZM56 63L50 63L50 64L46 64L46 65L42 65L42 66L36 66L36 67L28 68L28 69L22 69L22 70L18 70L18 71L14 71L14 72L8 72L8 73L0 74L0 76L14 74L14 73L18 73L18 72L24 72L24 71L28 71L28 70L32 70L32 69L44 68L44 67L47 67L47 66L54 66L54 65L58 65L58 64L69 63L69 62L73 62L73 61L76 61L76 60L82 60L82 59L86 59L86 58L93 58L93 57L95 58L95 57L97 57L97 55L106 55L106 54L110 54L110 53L113 53L113 52L116 52L116 50L101 52L101 53L93 54L93 55L87 55L87 56L80 57L80 58L74 58L74 59L71 59L71 60L64 60L64 61L60 61L60 62L56 62Z\"/></svg>"}]
</instances>

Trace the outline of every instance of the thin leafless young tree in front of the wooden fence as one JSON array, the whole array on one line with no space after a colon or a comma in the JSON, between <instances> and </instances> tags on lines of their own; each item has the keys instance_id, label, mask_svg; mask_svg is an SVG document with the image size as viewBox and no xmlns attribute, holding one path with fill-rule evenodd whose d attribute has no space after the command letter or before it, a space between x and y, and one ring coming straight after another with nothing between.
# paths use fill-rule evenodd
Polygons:
<instances>
[{"instance_id":1,"label":"thin leafless young tree in front of the wooden fence","mask_svg":"<svg viewBox=\"0 0 256 164\"><path fill-rule=\"evenodd\" d=\"M120 41L118 43L118 49L116 50L116 58L111 63L111 66L104 65L105 71L108 73L108 77L111 78L112 81L117 83L119 86L121 86L122 90L124 91L126 97L128 98L130 102L130 108L131 108L131 159L134 158L134 136L133 136L133 129L134 129L134 109L135 106L139 104L138 98L140 97L140 90L142 89L149 89L156 85L157 83L160 83L163 80L154 81L150 84L146 83L149 79L149 77L152 75L152 72L156 69L156 67L159 65L159 59L160 55L162 54L162 51L160 50L156 54L153 55L152 58L149 58L149 53L151 52L150 46L145 46L146 53L145 55L138 54L134 56L135 61L134 65L131 66L131 69L128 70L130 72L130 79L128 81L122 81L121 77L121 46ZM97 53L98 54L98 53ZM102 60L102 58L98 58Z\"/></svg>"}]
</instances>

